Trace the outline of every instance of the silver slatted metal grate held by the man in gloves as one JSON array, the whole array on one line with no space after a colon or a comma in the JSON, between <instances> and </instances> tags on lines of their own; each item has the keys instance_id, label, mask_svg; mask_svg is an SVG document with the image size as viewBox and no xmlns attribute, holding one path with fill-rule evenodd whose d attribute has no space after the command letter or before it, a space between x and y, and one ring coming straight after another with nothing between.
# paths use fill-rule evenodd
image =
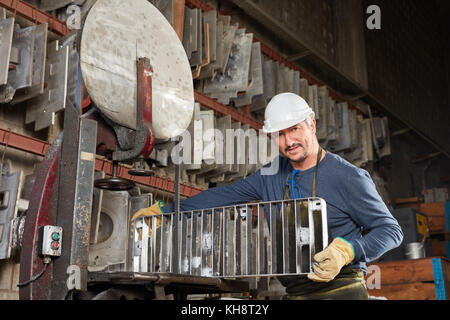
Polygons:
<instances>
[{"instance_id":1,"label":"silver slatted metal grate held by the man in gloves","mask_svg":"<svg viewBox=\"0 0 450 320\"><path fill-rule=\"evenodd\" d=\"M139 218L133 272L219 278L305 275L328 245L320 198L257 202Z\"/></svg>"}]
</instances>

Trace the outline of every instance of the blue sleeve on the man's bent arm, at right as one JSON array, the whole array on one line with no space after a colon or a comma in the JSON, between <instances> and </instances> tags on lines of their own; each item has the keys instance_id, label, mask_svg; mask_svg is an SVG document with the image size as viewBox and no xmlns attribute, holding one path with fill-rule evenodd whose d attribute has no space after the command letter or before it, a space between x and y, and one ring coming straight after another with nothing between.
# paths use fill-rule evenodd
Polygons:
<instances>
[{"instance_id":1,"label":"blue sleeve on the man's bent arm, at right","mask_svg":"<svg viewBox=\"0 0 450 320\"><path fill-rule=\"evenodd\" d=\"M366 170L358 169L349 182L343 188L349 197L346 211L367 232L359 239L349 240L355 250L354 262L370 262L398 247L403 232Z\"/></svg>"}]
</instances>

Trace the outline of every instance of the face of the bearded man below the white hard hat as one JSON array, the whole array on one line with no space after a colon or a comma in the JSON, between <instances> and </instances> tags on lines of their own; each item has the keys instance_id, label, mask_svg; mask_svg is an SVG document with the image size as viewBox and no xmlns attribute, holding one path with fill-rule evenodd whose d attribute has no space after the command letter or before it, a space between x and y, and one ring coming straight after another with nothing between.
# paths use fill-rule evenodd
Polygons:
<instances>
[{"instance_id":1,"label":"face of the bearded man below the white hard hat","mask_svg":"<svg viewBox=\"0 0 450 320\"><path fill-rule=\"evenodd\" d=\"M280 153L293 162L302 162L310 153L315 135L316 123L306 121L278 132Z\"/></svg>"}]
</instances>

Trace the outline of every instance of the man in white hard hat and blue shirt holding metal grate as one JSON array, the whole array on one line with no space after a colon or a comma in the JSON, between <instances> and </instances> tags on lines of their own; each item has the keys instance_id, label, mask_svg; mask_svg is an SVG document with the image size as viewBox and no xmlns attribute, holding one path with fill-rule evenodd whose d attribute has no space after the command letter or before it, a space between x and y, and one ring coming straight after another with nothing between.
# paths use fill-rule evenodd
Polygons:
<instances>
[{"instance_id":1,"label":"man in white hard hat and blue shirt holding metal grate","mask_svg":"<svg viewBox=\"0 0 450 320\"><path fill-rule=\"evenodd\" d=\"M281 154L274 159L279 161L276 173L263 175L260 169L233 184L208 189L181 201L180 210L320 197L327 203L332 241L314 256L314 272L307 278L279 277L286 287L286 298L368 299L366 262L403 240L399 224L369 173L319 146L314 112L296 94L281 93L272 98L265 110L263 131L278 134ZM133 219L163 211L173 212L173 205L155 204L138 211Z\"/></svg>"}]
</instances>

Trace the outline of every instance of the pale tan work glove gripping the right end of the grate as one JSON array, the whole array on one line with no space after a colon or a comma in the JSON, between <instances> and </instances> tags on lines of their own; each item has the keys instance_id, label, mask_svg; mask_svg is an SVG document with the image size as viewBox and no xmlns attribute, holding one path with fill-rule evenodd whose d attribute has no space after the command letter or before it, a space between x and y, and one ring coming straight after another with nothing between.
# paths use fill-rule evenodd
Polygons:
<instances>
[{"instance_id":1,"label":"pale tan work glove gripping the right end of the grate","mask_svg":"<svg viewBox=\"0 0 450 320\"><path fill-rule=\"evenodd\" d=\"M354 258L352 245L342 238L336 238L314 256L317 264L314 264L314 273L308 274L308 278L316 282L329 282Z\"/></svg>"}]
</instances>

